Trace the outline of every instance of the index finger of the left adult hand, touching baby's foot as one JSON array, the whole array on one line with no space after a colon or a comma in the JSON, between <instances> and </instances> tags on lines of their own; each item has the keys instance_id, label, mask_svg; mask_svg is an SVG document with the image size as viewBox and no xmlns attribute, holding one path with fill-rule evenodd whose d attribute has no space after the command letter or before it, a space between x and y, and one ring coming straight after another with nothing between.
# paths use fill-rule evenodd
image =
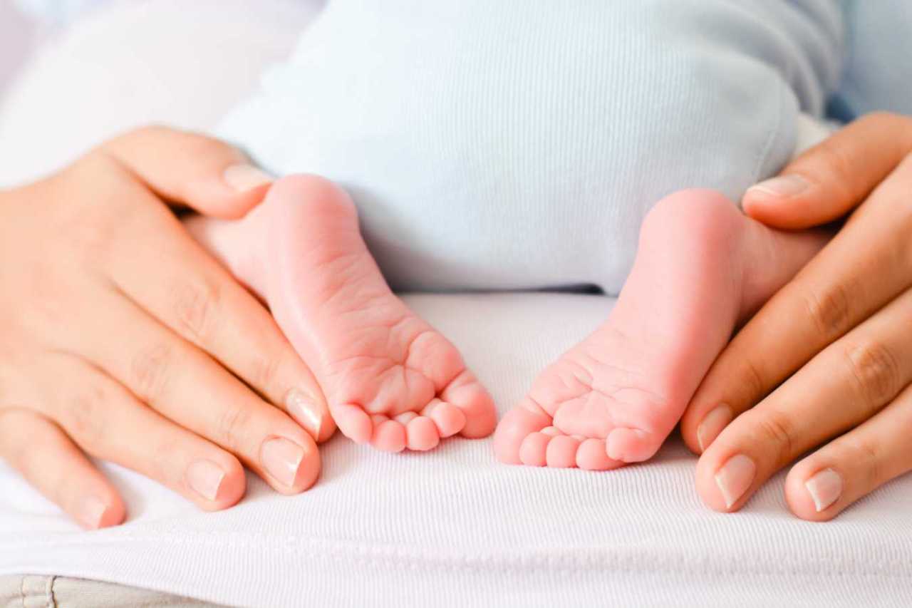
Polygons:
<instances>
[{"instance_id":1,"label":"index finger of the left adult hand, touching baby's foot","mask_svg":"<svg viewBox=\"0 0 912 608\"><path fill-rule=\"evenodd\" d=\"M335 431L314 374L269 311L209 256L180 222L136 183L122 184L144 214L126 229L118 251L101 263L117 287L182 338L290 414L317 441ZM150 199L150 200L146 200ZM144 226L143 226L144 225ZM144 228L144 229L143 229ZM154 275L137 272L154 269Z\"/></svg>"}]
</instances>

